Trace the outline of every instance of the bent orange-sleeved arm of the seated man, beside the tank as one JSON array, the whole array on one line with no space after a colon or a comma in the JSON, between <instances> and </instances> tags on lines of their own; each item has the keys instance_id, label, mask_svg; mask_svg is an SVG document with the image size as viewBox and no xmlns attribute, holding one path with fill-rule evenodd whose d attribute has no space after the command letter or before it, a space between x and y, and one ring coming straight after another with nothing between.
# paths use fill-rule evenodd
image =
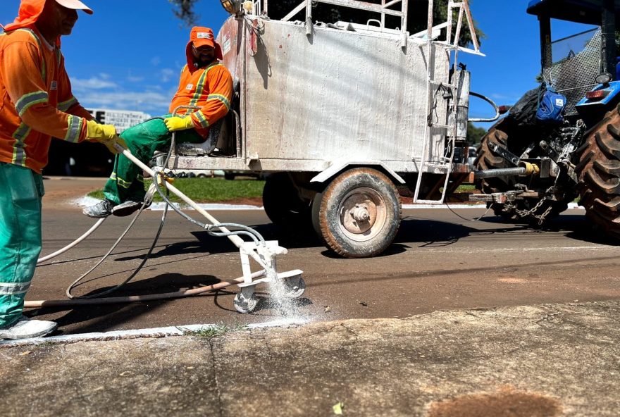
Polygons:
<instances>
[{"instance_id":1,"label":"bent orange-sleeved arm of the seated man, beside the tank","mask_svg":"<svg viewBox=\"0 0 620 417\"><path fill-rule=\"evenodd\" d=\"M209 85L206 104L192 113L192 121L196 127L209 127L226 116L233 99L233 77L225 66L211 68L206 75L206 82Z\"/></svg>"}]
</instances>

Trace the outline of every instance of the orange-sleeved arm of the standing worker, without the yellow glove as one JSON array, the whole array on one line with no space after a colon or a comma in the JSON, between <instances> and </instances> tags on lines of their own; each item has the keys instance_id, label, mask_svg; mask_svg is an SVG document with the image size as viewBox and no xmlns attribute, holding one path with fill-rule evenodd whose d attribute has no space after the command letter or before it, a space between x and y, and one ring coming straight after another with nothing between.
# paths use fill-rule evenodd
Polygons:
<instances>
[{"instance_id":1,"label":"orange-sleeved arm of the standing worker, without the yellow glove","mask_svg":"<svg viewBox=\"0 0 620 417\"><path fill-rule=\"evenodd\" d=\"M47 88L39 69L39 51L28 42L16 42L4 49L0 63L8 96L23 123L38 132L68 142L80 142L87 135L86 120L49 104Z\"/></svg>"}]
</instances>

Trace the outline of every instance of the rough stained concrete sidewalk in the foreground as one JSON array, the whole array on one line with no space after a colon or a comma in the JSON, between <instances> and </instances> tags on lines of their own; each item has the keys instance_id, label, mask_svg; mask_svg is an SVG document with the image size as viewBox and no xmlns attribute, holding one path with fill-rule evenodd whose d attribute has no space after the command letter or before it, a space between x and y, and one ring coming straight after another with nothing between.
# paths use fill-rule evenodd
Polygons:
<instances>
[{"instance_id":1,"label":"rough stained concrete sidewalk in the foreground","mask_svg":"<svg viewBox=\"0 0 620 417\"><path fill-rule=\"evenodd\" d=\"M618 416L620 301L0 346L3 416Z\"/></svg>"}]
</instances>

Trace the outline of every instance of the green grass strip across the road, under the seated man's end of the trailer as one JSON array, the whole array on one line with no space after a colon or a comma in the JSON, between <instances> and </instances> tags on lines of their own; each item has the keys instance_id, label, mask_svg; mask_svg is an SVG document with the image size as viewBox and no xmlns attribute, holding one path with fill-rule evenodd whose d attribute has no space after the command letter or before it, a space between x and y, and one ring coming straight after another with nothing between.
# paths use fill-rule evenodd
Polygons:
<instances>
[{"instance_id":1,"label":"green grass strip across the road, under the seated man's end of the trailer","mask_svg":"<svg viewBox=\"0 0 620 417\"><path fill-rule=\"evenodd\" d=\"M150 180L144 182L145 187L151 185ZM224 180L223 178L175 178L173 185L197 203L213 203L247 197L261 197L265 182L261 180ZM104 192L99 189L90 192L88 196L103 199ZM170 199L176 202L181 201L172 193ZM154 201L163 201L157 192Z\"/></svg>"}]
</instances>

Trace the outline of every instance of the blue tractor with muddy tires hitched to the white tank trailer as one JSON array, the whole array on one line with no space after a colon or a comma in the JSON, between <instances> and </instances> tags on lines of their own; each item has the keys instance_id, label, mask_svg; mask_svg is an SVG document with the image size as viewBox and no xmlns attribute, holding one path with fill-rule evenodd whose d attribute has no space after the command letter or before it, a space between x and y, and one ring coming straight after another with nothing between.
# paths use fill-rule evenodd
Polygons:
<instances>
[{"instance_id":1,"label":"blue tractor with muddy tires hitched to the white tank trailer","mask_svg":"<svg viewBox=\"0 0 620 417\"><path fill-rule=\"evenodd\" d=\"M527 12L540 23L541 87L483 137L475 161L483 194L472 199L507 221L543 225L579 197L586 216L620 238L620 1L533 0ZM552 19L590 26L552 40ZM535 115L546 89L566 100L554 123Z\"/></svg>"}]
</instances>

